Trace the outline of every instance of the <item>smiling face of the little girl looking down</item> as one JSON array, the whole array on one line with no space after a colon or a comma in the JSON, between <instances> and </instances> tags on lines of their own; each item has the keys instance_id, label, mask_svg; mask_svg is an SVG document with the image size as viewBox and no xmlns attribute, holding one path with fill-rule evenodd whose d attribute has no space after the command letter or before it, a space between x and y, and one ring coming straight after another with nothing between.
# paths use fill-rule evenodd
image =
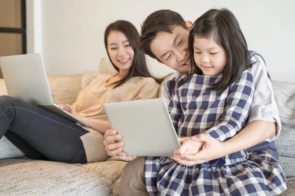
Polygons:
<instances>
[{"instance_id":1,"label":"smiling face of the little girl looking down","mask_svg":"<svg viewBox=\"0 0 295 196\"><path fill-rule=\"evenodd\" d=\"M222 72L227 59L222 49L213 38L194 38L194 59L204 75L213 76Z\"/></svg>"}]
</instances>

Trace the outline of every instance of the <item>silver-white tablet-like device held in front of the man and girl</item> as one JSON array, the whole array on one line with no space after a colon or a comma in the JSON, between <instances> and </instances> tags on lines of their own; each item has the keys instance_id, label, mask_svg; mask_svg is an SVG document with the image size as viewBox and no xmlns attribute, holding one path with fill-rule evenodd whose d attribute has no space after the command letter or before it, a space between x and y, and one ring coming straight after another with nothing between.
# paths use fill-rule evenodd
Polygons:
<instances>
[{"instance_id":1,"label":"silver-white tablet-like device held in front of the man and girl","mask_svg":"<svg viewBox=\"0 0 295 196\"><path fill-rule=\"evenodd\" d=\"M180 147L163 99L104 103L103 108L128 156L172 156Z\"/></svg>"}]
</instances>

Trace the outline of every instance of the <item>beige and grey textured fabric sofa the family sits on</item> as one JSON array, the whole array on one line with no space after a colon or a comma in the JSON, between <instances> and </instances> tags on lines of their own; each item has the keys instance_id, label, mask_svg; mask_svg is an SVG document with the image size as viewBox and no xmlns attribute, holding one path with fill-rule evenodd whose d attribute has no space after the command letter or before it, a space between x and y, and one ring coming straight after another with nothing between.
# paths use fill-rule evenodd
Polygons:
<instances>
[{"instance_id":1,"label":"beige and grey textured fabric sofa the family sits on","mask_svg":"<svg viewBox=\"0 0 295 196\"><path fill-rule=\"evenodd\" d=\"M48 77L53 101L71 104L94 77L115 72L108 59L102 58L98 72L86 70L82 74ZM168 74L165 81L171 76ZM295 196L295 84L272 81L272 85L282 121L282 131L275 143L288 186L281 195ZM7 95L3 79L0 95ZM120 175L126 164L116 157L87 164L32 160L2 137L0 196L118 196Z\"/></svg>"}]
</instances>

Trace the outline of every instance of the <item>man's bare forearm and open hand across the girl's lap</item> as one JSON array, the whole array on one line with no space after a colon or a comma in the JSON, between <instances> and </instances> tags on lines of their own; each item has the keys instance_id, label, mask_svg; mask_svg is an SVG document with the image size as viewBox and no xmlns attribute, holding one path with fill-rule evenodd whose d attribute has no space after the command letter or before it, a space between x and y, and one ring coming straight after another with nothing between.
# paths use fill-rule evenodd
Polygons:
<instances>
[{"instance_id":1,"label":"man's bare forearm and open hand across the girl's lap","mask_svg":"<svg viewBox=\"0 0 295 196\"><path fill-rule=\"evenodd\" d=\"M182 157L179 155L177 156L179 159L177 162L182 165L192 166L224 157L265 141L274 135L275 130L276 123L253 121L226 142L219 142L205 133L195 135L191 139L196 142L203 142L203 149L193 155L184 154Z\"/></svg>"}]
</instances>

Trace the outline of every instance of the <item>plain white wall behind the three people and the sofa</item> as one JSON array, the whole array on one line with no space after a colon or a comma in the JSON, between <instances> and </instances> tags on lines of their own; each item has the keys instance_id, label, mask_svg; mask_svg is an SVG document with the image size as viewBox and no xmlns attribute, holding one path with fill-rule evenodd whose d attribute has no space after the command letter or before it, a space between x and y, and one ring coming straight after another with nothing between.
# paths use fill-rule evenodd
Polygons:
<instances>
[{"instance_id":1,"label":"plain white wall behind the three people and the sofa","mask_svg":"<svg viewBox=\"0 0 295 196\"><path fill-rule=\"evenodd\" d=\"M40 7L40 51L48 75L97 70L106 56L104 30L116 20L130 21L140 30L158 9L172 9L194 21L210 8L226 7L236 15L248 48L265 57L272 79L295 82L293 0L42 0ZM162 69L164 65L156 64L153 70Z\"/></svg>"}]
</instances>

